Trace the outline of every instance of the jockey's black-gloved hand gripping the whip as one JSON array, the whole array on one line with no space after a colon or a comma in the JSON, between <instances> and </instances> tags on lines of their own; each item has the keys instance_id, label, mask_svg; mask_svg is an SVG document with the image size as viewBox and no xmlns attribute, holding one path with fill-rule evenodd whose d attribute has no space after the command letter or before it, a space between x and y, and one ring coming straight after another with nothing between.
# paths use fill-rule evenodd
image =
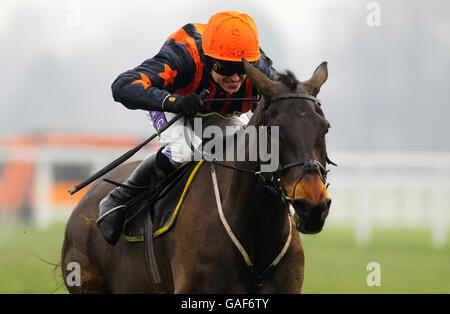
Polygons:
<instances>
[{"instance_id":1,"label":"jockey's black-gloved hand gripping the whip","mask_svg":"<svg viewBox=\"0 0 450 314\"><path fill-rule=\"evenodd\" d=\"M162 109L163 111L181 113L184 116L193 116L199 112L211 112L211 109L203 104L200 96L195 93L186 96L170 95L164 100Z\"/></svg>"}]
</instances>

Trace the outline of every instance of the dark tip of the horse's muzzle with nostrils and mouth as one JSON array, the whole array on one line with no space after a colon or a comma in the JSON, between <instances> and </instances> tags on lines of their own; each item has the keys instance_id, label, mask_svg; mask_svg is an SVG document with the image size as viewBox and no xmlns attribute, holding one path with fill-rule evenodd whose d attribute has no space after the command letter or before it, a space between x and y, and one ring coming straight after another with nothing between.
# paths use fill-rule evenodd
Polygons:
<instances>
[{"instance_id":1,"label":"dark tip of the horse's muzzle with nostrils and mouth","mask_svg":"<svg viewBox=\"0 0 450 314\"><path fill-rule=\"evenodd\" d=\"M297 230L305 234L314 234L322 231L330 206L330 199L325 199L317 204L304 199L292 202L292 207L294 207L298 215Z\"/></svg>"}]
</instances>

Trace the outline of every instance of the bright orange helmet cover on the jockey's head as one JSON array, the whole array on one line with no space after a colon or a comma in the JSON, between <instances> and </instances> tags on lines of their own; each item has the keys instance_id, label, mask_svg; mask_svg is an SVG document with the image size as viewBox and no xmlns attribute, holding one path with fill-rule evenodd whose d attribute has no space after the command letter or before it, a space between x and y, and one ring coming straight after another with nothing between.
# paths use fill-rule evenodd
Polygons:
<instances>
[{"instance_id":1,"label":"bright orange helmet cover on the jockey's head","mask_svg":"<svg viewBox=\"0 0 450 314\"><path fill-rule=\"evenodd\" d=\"M211 58L241 62L258 61L258 29L253 19L236 11L213 15L205 27L202 38L203 53Z\"/></svg>"}]
</instances>

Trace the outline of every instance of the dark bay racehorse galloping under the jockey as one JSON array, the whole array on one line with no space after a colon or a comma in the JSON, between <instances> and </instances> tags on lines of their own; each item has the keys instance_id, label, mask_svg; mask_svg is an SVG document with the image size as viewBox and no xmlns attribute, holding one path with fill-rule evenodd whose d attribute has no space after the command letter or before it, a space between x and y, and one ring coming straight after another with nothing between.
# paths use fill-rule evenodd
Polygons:
<instances>
[{"instance_id":1,"label":"dark bay racehorse galloping under the jockey","mask_svg":"<svg viewBox=\"0 0 450 314\"><path fill-rule=\"evenodd\" d=\"M201 165L176 224L155 239L166 292L300 293L304 252L297 230L318 233L328 215L325 134L330 125L316 98L328 77L326 62L304 82L289 71L272 81L243 62L248 78L262 94L248 125L279 126L281 166L273 174L261 174L259 161ZM124 164L108 177L123 182L137 165ZM95 225L98 204L112 188L97 180L69 218L62 248L63 278L69 275L67 265L76 262L81 281L66 284L67 289L70 293L158 293L144 262L144 244L120 239L110 246Z\"/></svg>"}]
</instances>

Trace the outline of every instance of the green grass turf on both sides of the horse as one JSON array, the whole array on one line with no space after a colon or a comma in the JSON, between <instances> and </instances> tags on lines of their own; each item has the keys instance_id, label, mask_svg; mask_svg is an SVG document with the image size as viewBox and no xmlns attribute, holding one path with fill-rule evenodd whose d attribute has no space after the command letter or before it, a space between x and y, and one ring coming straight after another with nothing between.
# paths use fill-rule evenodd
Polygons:
<instances>
[{"instance_id":1,"label":"green grass turf on both sides of the horse","mask_svg":"<svg viewBox=\"0 0 450 314\"><path fill-rule=\"evenodd\" d=\"M60 268L41 260L59 263L63 233L63 224L0 224L0 293L66 293ZM345 229L302 240L304 293L450 293L450 243L432 248L427 231L376 230L366 247ZM380 264L380 287L366 283L369 262Z\"/></svg>"}]
</instances>

